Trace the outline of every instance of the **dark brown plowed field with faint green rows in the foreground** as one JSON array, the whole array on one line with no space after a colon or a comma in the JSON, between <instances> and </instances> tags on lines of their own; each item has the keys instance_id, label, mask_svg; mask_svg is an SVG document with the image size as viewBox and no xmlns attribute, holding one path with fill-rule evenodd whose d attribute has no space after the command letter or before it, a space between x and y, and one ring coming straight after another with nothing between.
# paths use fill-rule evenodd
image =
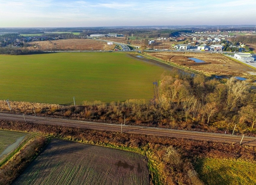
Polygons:
<instances>
[{"instance_id":1,"label":"dark brown plowed field with faint green rows in the foreground","mask_svg":"<svg viewBox=\"0 0 256 185\"><path fill-rule=\"evenodd\" d=\"M142 155L53 140L14 184L149 184Z\"/></svg>"}]
</instances>

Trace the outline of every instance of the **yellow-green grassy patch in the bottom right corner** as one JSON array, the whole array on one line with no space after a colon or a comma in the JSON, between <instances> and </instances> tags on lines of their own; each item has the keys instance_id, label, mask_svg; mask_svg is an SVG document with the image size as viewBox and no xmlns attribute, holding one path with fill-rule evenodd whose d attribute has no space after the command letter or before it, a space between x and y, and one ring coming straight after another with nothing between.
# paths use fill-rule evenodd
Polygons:
<instances>
[{"instance_id":1,"label":"yellow-green grassy patch in the bottom right corner","mask_svg":"<svg viewBox=\"0 0 256 185\"><path fill-rule=\"evenodd\" d=\"M195 168L205 184L256 184L255 162L205 158Z\"/></svg>"}]
</instances>

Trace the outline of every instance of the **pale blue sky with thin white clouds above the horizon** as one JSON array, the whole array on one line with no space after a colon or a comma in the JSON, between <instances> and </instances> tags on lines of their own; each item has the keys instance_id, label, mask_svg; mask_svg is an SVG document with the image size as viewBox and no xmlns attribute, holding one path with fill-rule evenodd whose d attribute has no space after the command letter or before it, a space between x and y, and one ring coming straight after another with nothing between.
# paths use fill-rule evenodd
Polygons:
<instances>
[{"instance_id":1,"label":"pale blue sky with thin white clouds above the horizon","mask_svg":"<svg viewBox=\"0 0 256 185\"><path fill-rule=\"evenodd\" d=\"M255 25L256 0L0 0L0 27Z\"/></svg>"}]
</instances>

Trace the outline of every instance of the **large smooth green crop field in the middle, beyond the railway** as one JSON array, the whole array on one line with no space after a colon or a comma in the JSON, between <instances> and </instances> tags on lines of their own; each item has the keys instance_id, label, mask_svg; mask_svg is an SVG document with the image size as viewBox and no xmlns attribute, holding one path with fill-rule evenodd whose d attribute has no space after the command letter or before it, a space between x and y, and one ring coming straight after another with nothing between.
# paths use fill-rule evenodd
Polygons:
<instances>
[{"instance_id":1,"label":"large smooth green crop field in the middle, beyond the railway","mask_svg":"<svg viewBox=\"0 0 256 185\"><path fill-rule=\"evenodd\" d=\"M0 55L0 99L77 104L153 98L165 68L126 53Z\"/></svg>"}]
</instances>

